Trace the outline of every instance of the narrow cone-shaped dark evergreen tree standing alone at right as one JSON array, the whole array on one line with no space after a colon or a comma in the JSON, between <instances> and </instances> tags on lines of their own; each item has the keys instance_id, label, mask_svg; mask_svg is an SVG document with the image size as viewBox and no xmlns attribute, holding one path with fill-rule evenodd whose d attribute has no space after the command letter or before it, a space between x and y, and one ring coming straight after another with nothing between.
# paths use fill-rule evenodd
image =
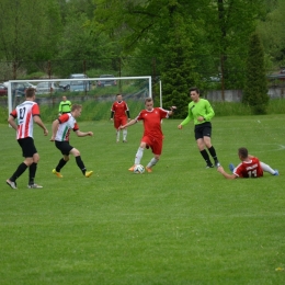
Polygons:
<instances>
[{"instance_id":1,"label":"narrow cone-shaped dark evergreen tree standing alone at right","mask_svg":"<svg viewBox=\"0 0 285 285\"><path fill-rule=\"evenodd\" d=\"M264 52L260 36L253 33L250 37L247 60L247 82L242 102L251 106L253 114L265 114L269 100Z\"/></svg>"}]
</instances>

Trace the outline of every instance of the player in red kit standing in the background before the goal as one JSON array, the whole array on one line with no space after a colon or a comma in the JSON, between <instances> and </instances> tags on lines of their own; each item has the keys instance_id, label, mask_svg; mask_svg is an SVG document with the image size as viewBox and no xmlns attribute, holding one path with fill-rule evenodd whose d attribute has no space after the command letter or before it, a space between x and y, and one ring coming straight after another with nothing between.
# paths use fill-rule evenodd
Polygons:
<instances>
[{"instance_id":1,"label":"player in red kit standing in the background before the goal","mask_svg":"<svg viewBox=\"0 0 285 285\"><path fill-rule=\"evenodd\" d=\"M116 95L116 101L111 109L111 121L114 121L114 127L116 129L116 141L119 141L119 126L123 126L129 121L129 110L127 103L123 101L122 94ZM123 129L123 142L127 142L127 129Z\"/></svg>"}]
</instances>

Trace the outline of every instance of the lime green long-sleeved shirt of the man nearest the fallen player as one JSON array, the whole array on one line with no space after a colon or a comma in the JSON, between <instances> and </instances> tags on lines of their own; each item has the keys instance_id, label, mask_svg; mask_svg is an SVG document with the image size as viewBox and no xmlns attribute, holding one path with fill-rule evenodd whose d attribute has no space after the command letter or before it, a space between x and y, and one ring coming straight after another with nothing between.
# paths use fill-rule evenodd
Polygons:
<instances>
[{"instance_id":1,"label":"lime green long-sleeved shirt of the man nearest the fallen player","mask_svg":"<svg viewBox=\"0 0 285 285\"><path fill-rule=\"evenodd\" d=\"M205 121L197 121L198 116L203 116ZM198 102L189 103L189 115L181 123L182 126L185 126L191 119L194 119L194 125L200 125L205 122L209 122L215 116L215 112L210 106L209 102L206 99L200 99Z\"/></svg>"}]
</instances>

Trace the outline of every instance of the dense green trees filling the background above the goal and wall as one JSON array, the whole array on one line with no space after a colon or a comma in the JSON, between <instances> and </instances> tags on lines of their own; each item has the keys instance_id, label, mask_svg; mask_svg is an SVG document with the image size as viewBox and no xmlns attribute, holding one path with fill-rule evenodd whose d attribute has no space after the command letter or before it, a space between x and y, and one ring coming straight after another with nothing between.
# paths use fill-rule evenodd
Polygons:
<instances>
[{"instance_id":1,"label":"dense green trees filling the background above the goal and wall","mask_svg":"<svg viewBox=\"0 0 285 285\"><path fill-rule=\"evenodd\" d=\"M48 61L59 77L152 75L183 110L191 86L247 90L253 35L264 70L285 66L284 12L282 0L1 0L0 78Z\"/></svg>"}]
</instances>

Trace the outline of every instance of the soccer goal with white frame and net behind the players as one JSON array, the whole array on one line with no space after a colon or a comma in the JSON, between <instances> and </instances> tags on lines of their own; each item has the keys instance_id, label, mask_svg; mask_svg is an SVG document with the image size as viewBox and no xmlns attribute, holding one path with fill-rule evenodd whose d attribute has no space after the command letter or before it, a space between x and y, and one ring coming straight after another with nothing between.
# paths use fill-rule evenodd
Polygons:
<instances>
[{"instance_id":1,"label":"soccer goal with white frame and net behind the players","mask_svg":"<svg viewBox=\"0 0 285 285\"><path fill-rule=\"evenodd\" d=\"M29 86L35 87L41 115L49 122L53 122L58 115L58 106L62 96L71 101L71 104L83 106L82 121L110 119L111 107L118 93L128 104L132 118L145 109L145 99L152 98L151 77L101 76L100 78L88 78L84 75L72 76L69 79L8 81L9 114L25 100L24 90Z\"/></svg>"}]
</instances>

